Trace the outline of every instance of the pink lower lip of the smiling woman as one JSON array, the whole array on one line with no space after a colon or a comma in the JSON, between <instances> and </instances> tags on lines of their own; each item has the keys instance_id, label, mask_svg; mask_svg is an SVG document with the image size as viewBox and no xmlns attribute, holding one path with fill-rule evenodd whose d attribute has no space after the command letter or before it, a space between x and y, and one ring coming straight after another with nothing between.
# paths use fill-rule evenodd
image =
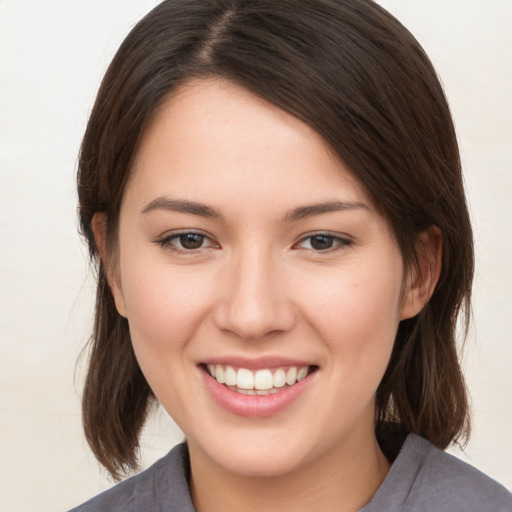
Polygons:
<instances>
[{"instance_id":1,"label":"pink lower lip of the smiling woman","mask_svg":"<svg viewBox=\"0 0 512 512\"><path fill-rule=\"evenodd\" d=\"M208 372L201 369L206 388L215 401L226 411L249 418L273 416L289 407L311 384L315 373L310 373L293 386L271 395L243 395L219 384Z\"/></svg>"}]
</instances>

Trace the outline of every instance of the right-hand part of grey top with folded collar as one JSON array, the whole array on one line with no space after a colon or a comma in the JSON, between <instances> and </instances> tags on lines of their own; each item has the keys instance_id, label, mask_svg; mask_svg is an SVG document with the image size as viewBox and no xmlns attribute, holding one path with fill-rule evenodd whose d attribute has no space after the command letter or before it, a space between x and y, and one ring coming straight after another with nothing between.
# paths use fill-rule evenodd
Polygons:
<instances>
[{"instance_id":1,"label":"right-hand part of grey top with folded collar","mask_svg":"<svg viewBox=\"0 0 512 512\"><path fill-rule=\"evenodd\" d=\"M425 439L409 435L364 512L512 512L502 485Z\"/></svg>"}]
</instances>

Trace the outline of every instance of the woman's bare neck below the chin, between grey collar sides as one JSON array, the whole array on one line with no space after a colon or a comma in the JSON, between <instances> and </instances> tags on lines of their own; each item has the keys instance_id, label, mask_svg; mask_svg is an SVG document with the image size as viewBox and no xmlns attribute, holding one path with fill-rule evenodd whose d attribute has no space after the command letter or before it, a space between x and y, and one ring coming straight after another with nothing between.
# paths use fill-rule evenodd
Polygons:
<instances>
[{"instance_id":1,"label":"woman's bare neck below the chin, between grey collar sides","mask_svg":"<svg viewBox=\"0 0 512 512\"><path fill-rule=\"evenodd\" d=\"M375 436L344 443L312 462L277 476L245 476L199 454L189 443L191 494L197 512L355 512L368 503L389 463Z\"/></svg>"}]
</instances>

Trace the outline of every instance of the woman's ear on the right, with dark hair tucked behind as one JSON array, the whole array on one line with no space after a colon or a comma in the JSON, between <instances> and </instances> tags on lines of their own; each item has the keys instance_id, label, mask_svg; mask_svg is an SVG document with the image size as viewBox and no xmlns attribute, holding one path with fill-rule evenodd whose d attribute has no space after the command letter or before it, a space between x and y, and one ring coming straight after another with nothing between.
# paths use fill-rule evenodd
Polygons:
<instances>
[{"instance_id":1,"label":"woman's ear on the right, with dark hair tucked behind","mask_svg":"<svg viewBox=\"0 0 512 512\"><path fill-rule=\"evenodd\" d=\"M429 301L441 275L442 254L443 237L437 226L430 226L418 235L418 265L411 265L408 270L400 320L416 316Z\"/></svg>"}]
</instances>

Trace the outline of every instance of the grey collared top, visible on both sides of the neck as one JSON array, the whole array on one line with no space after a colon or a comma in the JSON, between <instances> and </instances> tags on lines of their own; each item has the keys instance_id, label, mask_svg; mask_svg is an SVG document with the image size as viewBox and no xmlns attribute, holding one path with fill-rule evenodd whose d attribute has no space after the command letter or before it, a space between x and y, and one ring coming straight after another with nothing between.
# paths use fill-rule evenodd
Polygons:
<instances>
[{"instance_id":1,"label":"grey collared top, visible on both sides of the neck","mask_svg":"<svg viewBox=\"0 0 512 512\"><path fill-rule=\"evenodd\" d=\"M195 512L185 444L70 512ZM477 469L410 434L360 512L512 512L512 494Z\"/></svg>"}]
</instances>

